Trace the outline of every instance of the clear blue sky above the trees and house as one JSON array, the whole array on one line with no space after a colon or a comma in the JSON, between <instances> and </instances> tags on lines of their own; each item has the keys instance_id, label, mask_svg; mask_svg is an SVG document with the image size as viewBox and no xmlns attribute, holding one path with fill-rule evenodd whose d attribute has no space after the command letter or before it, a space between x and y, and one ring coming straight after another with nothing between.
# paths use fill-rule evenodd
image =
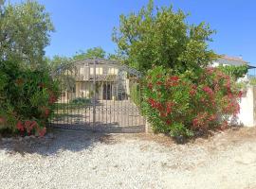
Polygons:
<instances>
[{"instance_id":1,"label":"clear blue sky above the trees and house","mask_svg":"<svg viewBox=\"0 0 256 189\"><path fill-rule=\"evenodd\" d=\"M10 0L19 2L19 0ZM80 49L101 46L115 52L111 41L119 15L137 11L147 0L39 0L50 12L56 32L46 55L72 56ZM156 6L169 6L191 13L190 24L210 23L217 30L210 48L219 54L243 56L256 65L256 1L255 0L155 0Z\"/></svg>"}]
</instances>

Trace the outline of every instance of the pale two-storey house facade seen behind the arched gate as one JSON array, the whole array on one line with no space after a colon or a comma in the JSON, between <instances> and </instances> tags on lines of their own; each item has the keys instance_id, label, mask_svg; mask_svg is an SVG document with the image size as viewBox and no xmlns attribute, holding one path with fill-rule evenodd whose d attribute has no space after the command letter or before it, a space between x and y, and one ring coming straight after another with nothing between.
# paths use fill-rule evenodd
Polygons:
<instances>
[{"instance_id":1,"label":"pale two-storey house facade seen behind the arched gate","mask_svg":"<svg viewBox=\"0 0 256 189\"><path fill-rule=\"evenodd\" d=\"M123 100L130 95L130 74L113 60L78 60L65 75L74 79L71 90L65 90L62 101L84 97L97 100Z\"/></svg>"}]
</instances>

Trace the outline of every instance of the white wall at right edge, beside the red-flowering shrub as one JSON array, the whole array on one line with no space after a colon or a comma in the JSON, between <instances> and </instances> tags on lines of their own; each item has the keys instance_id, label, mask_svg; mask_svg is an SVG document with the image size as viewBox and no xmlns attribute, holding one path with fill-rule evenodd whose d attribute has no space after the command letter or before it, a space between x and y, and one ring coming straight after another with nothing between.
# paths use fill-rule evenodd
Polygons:
<instances>
[{"instance_id":1,"label":"white wall at right edge, beside the red-flowering shrub","mask_svg":"<svg viewBox=\"0 0 256 189\"><path fill-rule=\"evenodd\" d=\"M256 126L256 87L247 87L241 98L240 113L236 119L231 119L231 123L245 127Z\"/></svg>"}]
</instances>

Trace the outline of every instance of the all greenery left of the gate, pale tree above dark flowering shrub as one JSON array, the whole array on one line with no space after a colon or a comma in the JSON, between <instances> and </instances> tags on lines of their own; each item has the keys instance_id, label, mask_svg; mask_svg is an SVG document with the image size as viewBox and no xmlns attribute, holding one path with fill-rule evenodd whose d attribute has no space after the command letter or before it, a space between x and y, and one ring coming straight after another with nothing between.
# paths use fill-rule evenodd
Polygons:
<instances>
[{"instance_id":1,"label":"all greenery left of the gate, pale tree above dark flowering shrub","mask_svg":"<svg viewBox=\"0 0 256 189\"><path fill-rule=\"evenodd\" d=\"M0 16L0 128L43 136L60 94L44 57L52 23L34 1L1 4Z\"/></svg>"}]
</instances>

